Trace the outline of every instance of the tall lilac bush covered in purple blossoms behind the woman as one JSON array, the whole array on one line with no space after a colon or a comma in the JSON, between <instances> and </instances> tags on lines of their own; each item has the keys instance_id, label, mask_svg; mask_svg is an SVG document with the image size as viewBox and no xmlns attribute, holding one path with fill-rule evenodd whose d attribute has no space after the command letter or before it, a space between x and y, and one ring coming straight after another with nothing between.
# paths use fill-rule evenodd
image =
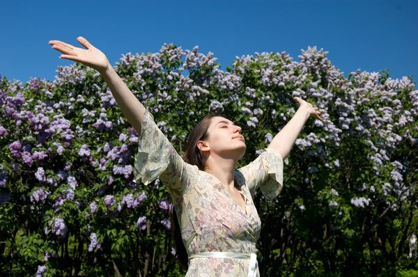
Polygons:
<instances>
[{"instance_id":1,"label":"tall lilac bush covered in purple blossoms behind the woman","mask_svg":"<svg viewBox=\"0 0 418 277\"><path fill-rule=\"evenodd\" d=\"M360 70L345 78L316 47L299 61L256 53L221 70L212 53L163 45L125 54L114 68L180 154L207 113L242 127L242 166L293 116L294 96L323 112L325 122L309 120L284 161L281 195L254 197L262 275L412 267L403 262L418 231L412 78ZM83 65L59 67L53 81L0 78L1 272L180 274L167 191L158 179L132 182L138 136L100 74Z\"/></svg>"}]
</instances>

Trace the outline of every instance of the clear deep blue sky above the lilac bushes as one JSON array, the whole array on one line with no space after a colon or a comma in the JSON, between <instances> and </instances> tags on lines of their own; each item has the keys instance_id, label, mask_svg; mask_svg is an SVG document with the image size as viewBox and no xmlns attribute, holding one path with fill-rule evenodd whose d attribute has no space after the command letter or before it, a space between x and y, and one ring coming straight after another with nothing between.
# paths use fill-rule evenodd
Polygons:
<instances>
[{"instance_id":1,"label":"clear deep blue sky above the lilac bushes","mask_svg":"<svg viewBox=\"0 0 418 277\"><path fill-rule=\"evenodd\" d=\"M222 68L235 56L317 46L347 76L389 68L418 79L418 1L3 1L0 74L54 79L69 65L49 40L82 35L114 64L127 52L158 52L164 42L213 52Z\"/></svg>"}]
</instances>

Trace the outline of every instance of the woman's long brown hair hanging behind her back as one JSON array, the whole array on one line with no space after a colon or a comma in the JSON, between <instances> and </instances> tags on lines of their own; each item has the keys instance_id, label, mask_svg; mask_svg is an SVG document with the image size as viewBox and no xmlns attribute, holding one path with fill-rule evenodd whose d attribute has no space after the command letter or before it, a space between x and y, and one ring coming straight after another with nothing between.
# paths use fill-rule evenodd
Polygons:
<instances>
[{"instance_id":1,"label":"woman's long brown hair hanging behind her back","mask_svg":"<svg viewBox=\"0 0 418 277\"><path fill-rule=\"evenodd\" d=\"M201 155L201 151L197 147L199 141L203 141L208 138L208 129L210 126L210 120L217 115L208 115L205 116L190 132L189 139L185 145L185 152L183 154L183 160L187 164L192 164L197 166L199 170L205 170L205 159ZM183 244L183 239L181 237L180 225L178 224L178 217L176 209L173 209L173 214L171 216L171 226L173 230L173 239L176 244L176 256L178 263L184 269L189 267L189 257L185 245Z\"/></svg>"}]
</instances>

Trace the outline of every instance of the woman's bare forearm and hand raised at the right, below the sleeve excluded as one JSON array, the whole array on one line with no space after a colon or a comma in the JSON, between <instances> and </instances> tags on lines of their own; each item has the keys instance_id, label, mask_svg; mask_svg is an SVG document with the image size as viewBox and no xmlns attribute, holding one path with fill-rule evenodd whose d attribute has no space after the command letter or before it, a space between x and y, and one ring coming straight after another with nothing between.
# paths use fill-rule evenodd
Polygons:
<instances>
[{"instance_id":1,"label":"woman's bare forearm and hand raised at the right, below the sleeve excluded","mask_svg":"<svg viewBox=\"0 0 418 277\"><path fill-rule=\"evenodd\" d=\"M279 134L274 136L270 145L268 145L268 148L272 148L279 152L283 159L288 157L297 136L299 136L302 127L309 117L314 116L314 118L322 121L322 118L320 118L320 111L318 111L317 107L312 106L312 104L309 104L299 97L294 97L293 99L300 104L299 109L297 109L293 118L283 129L281 129Z\"/></svg>"}]
</instances>

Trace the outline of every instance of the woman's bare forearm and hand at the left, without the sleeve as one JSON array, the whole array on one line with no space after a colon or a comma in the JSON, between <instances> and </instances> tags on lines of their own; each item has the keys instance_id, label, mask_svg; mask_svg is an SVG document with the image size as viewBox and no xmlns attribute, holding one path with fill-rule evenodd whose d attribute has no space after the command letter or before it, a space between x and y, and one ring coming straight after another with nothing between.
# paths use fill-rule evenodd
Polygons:
<instances>
[{"instance_id":1,"label":"woman's bare forearm and hand at the left, without the sleeve","mask_svg":"<svg viewBox=\"0 0 418 277\"><path fill-rule=\"evenodd\" d=\"M137 130L138 134L141 134L144 106L127 88L121 77L116 74L114 68L110 65L107 57L99 49L91 45L85 38L78 37L77 40L86 49L74 47L59 40L51 40L49 44L52 45L53 49L62 53L60 58L76 61L98 70L104 81L106 81L107 86L109 86L127 121Z\"/></svg>"}]
</instances>

